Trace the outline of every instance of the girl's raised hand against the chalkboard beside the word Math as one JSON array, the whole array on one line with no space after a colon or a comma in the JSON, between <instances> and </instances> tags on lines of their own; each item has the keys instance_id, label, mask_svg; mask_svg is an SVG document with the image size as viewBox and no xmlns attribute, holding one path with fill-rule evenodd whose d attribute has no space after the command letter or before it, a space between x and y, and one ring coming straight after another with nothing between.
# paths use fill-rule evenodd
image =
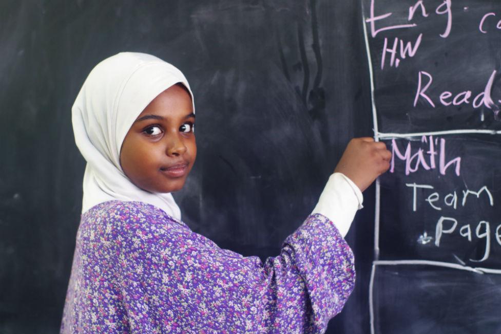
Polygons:
<instances>
[{"instance_id":1,"label":"girl's raised hand against the chalkboard beside the word Math","mask_svg":"<svg viewBox=\"0 0 501 334\"><path fill-rule=\"evenodd\" d=\"M383 142L375 142L371 137L353 138L334 172L343 173L364 191L390 168L391 155Z\"/></svg>"}]
</instances>

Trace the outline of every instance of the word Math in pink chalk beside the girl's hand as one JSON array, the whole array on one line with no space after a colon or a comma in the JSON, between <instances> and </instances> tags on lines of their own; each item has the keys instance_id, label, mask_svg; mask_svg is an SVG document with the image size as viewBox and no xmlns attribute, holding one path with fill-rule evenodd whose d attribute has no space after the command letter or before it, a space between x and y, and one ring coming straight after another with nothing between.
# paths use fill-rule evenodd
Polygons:
<instances>
[{"instance_id":1,"label":"word Math in pink chalk beside the girl's hand","mask_svg":"<svg viewBox=\"0 0 501 334\"><path fill-rule=\"evenodd\" d=\"M392 139L392 160L390 163L390 173L395 171L395 161L396 159L405 162L405 173L409 175L414 173L419 169L423 170L433 170L436 169L436 158L438 155L438 171L441 175L446 175L447 170L453 166L454 173L459 176L461 171L461 157L455 157L446 162L446 140L444 138L433 138L433 136L422 136L421 143L428 144L428 151L425 152L421 147L413 153L411 142L407 143L406 151L402 154L402 151L398 148L398 144L395 139ZM436 146L439 146L439 152L436 150Z\"/></svg>"}]
</instances>

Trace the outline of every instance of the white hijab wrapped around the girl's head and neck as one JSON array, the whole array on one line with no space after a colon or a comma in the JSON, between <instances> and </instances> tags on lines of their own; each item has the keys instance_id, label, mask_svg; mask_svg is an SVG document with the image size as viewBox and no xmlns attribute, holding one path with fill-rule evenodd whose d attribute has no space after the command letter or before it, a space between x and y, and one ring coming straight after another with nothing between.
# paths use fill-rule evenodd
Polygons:
<instances>
[{"instance_id":1,"label":"white hijab wrapped around the girl's head and neck","mask_svg":"<svg viewBox=\"0 0 501 334\"><path fill-rule=\"evenodd\" d=\"M89 73L71 109L76 146L87 160L82 213L118 199L146 202L181 219L170 193L150 193L136 187L120 166L122 142L132 123L153 99L176 83L186 86L193 103L183 73L145 53L115 54Z\"/></svg>"}]
</instances>

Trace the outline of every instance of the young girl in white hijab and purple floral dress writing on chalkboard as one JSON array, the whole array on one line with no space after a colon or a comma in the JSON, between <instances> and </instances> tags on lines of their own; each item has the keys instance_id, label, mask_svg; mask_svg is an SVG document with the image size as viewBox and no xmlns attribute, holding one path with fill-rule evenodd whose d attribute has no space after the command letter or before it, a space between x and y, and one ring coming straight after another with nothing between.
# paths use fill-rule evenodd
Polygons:
<instances>
[{"instance_id":1,"label":"young girl in white hijab and purple floral dress writing on chalkboard","mask_svg":"<svg viewBox=\"0 0 501 334\"><path fill-rule=\"evenodd\" d=\"M263 264L182 221L172 191L195 162L195 107L174 66L123 52L92 69L72 108L87 161L62 333L317 333L354 280L343 236L390 152L354 139L312 214Z\"/></svg>"}]
</instances>

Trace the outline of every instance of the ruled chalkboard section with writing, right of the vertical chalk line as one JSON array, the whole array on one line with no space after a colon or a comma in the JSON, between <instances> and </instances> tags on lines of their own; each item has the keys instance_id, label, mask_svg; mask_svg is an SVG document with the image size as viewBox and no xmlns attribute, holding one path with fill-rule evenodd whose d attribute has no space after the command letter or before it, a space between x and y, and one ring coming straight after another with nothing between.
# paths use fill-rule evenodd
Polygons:
<instances>
[{"instance_id":1,"label":"ruled chalkboard section with writing, right of the vertical chalk line","mask_svg":"<svg viewBox=\"0 0 501 334\"><path fill-rule=\"evenodd\" d=\"M501 4L363 0L376 185L371 333L499 333Z\"/></svg>"}]
</instances>

